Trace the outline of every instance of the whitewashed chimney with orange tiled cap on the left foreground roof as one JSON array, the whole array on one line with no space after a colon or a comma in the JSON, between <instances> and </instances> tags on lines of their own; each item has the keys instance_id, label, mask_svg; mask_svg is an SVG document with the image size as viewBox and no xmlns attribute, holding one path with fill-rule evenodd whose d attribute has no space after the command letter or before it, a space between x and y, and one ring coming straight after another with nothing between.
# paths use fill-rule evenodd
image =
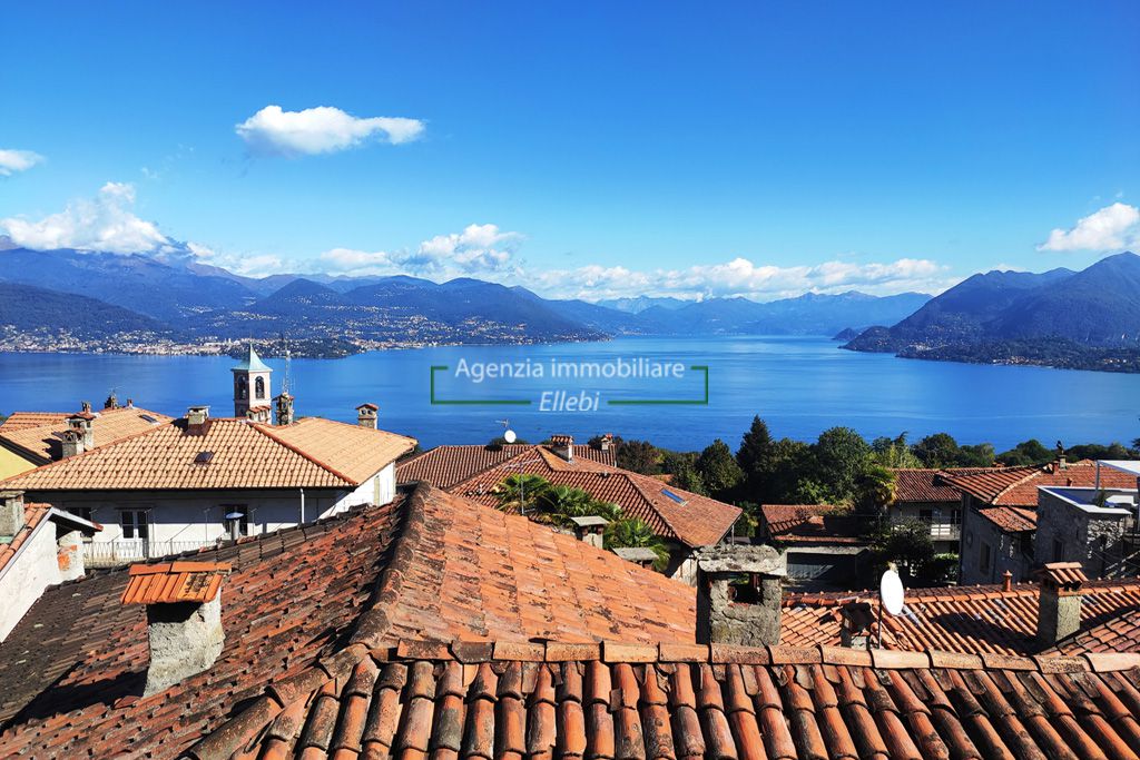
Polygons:
<instances>
[{"instance_id":1,"label":"whitewashed chimney with orange tiled cap on the left foreground roof","mask_svg":"<svg viewBox=\"0 0 1140 760\"><path fill-rule=\"evenodd\" d=\"M146 605L150 643L142 696L209 670L221 654L221 580L229 571L212 562L131 566L123 604Z\"/></svg>"}]
</instances>

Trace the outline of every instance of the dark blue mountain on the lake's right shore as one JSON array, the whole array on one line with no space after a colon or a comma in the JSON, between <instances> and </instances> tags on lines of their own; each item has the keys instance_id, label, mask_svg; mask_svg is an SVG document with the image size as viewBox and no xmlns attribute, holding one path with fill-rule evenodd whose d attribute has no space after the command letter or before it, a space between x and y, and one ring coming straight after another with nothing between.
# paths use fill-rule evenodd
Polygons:
<instances>
[{"instance_id":1,"label":"dark blue mountain on the lake's right shore","mask_svg":"<svg viewBox=\"0 0 1140 760\"><path fill-rule=\"evenodd\" d=\"M1140 256L1121 253L1081 272L975 275L906 319L868 329L844 348L956 361L1126 368L1130 352L1140 354Z\"/></svg>"}]
</instances>

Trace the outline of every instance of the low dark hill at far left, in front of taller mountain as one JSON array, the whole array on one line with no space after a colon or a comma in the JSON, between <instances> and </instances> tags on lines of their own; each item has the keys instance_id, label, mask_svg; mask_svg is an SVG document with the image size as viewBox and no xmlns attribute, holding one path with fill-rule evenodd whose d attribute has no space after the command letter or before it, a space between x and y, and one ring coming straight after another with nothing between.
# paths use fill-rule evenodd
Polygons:
<instances>
[{"instance_id":1,"label":"low dark hill at far left, in front of taller mountain","mask_svg":"<svg viewBox=\"0 0 1140 760\"><path fill-rule=\"evenodd\" d=\"M0 334L70 335L81 341L123 333L169 334L156 319L72 293L33 285L0 283Z\"/></svg>"}]
</instances>

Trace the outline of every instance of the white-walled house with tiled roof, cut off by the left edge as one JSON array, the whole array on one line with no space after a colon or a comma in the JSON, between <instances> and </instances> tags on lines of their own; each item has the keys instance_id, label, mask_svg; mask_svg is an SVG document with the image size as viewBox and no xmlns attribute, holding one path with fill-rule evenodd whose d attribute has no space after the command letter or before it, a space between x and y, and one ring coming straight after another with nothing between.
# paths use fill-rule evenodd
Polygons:
<instances>
[{"instance_id":1,"label":"white-walled house with tiled roof, cut off by the left edge","mask_svg":"<svg viewBox=\"0 0 1140 760\"><path fill-rule=\"evenodd\" d=\"M0 491L0 641L49 586L83 575L82 538L101 530L46 504Z\"/></svg>"}]
</instances>

